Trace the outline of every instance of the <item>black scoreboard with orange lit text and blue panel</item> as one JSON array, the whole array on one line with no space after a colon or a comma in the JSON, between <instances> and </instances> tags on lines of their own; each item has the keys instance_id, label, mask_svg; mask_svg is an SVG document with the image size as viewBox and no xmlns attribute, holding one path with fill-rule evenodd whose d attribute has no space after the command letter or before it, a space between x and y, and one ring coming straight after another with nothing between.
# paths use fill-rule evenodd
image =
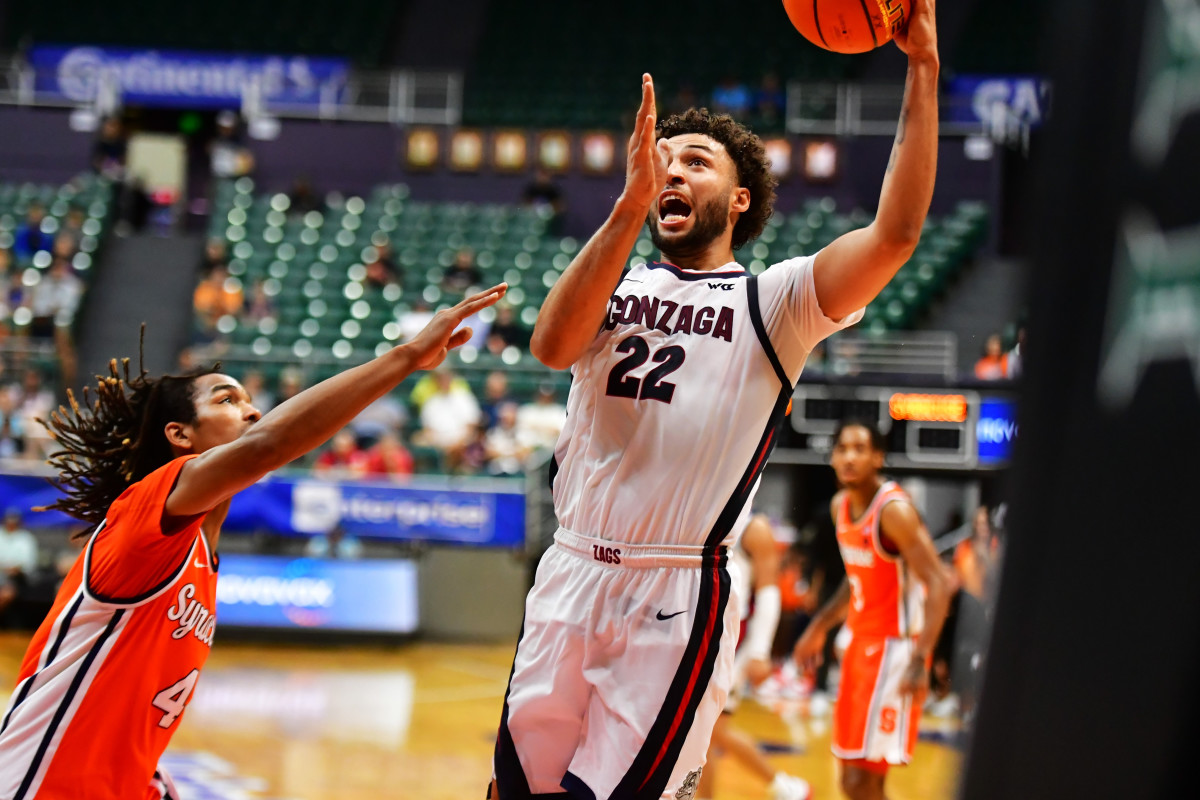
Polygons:
<instances>
[{"instance_id":1,"label":"black scoreboard with orange lit text and blue panel","mask_svg":"<svg viewBox=\"0 0 1200 800\"><path fill-rule=\"evenodd\" d=\"M888 445L888 467L995 470L1008 465L1016 439L1012 390L912 389L800 384L774 461L824 464L845 419L874 422Z\"/></svg>"}]
</instances>

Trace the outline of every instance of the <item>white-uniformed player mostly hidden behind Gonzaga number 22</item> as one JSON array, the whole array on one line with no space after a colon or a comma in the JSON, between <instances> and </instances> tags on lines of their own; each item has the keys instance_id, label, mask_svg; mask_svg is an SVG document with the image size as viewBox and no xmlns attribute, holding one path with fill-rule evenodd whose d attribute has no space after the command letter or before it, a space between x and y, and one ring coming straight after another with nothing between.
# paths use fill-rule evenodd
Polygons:
<instances>
[{"instance_id":1,"label":"white-uniformed player mostly hidden behind Gonzaga number 22","mask_svg":"<svg viewBox=\"0 0 1200 800\"><path fill-rule=\"evenodd\" d=\"M733 712L748 687L758 686L772 672L770 648L779 627L779 546L770 521L764 515L750 518L738 543L730 549L730 576L742 582L738 595L742 636L733 656L733 688L721 716L713 727L704 771L700 776L696 800L712 800L716 787L716 758L727 754L762 778L772 800L808 800L812 792L808 781L781 772L770 765L755 741L733 724Z\"/></svg>"}]
</instances>

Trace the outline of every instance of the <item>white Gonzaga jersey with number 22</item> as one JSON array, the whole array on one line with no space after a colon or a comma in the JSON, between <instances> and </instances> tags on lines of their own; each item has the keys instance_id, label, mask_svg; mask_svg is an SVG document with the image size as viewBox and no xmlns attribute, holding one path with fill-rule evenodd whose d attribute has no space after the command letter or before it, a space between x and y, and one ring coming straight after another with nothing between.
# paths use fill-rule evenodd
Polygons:
<instances>
[{"instance_id":1,"label":"white Gonzaga jersey with number 22","mask_svg":"<svg viewBox=\"0 0 1200 800\"><path fill-rule=\"evenodd\" d=\"M685 546L740 533L809 351L862 318L821 312L814 259L624 276L572 367L552 471L563 528Z\"/></svg>"}]
</instances>

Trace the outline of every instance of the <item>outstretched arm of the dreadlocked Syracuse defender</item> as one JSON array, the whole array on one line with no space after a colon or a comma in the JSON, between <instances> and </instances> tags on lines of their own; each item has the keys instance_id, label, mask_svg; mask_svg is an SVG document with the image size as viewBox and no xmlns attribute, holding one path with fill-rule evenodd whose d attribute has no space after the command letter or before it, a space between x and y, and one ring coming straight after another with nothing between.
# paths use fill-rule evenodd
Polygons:
<instances>
[{"instance_id":1,"label":"outstretched arm of the dreadlocked Syracuse defender","mask_svg":"<svg viewBox=\"0 0 1200 800\"><path fill-rule=\"evenodd\" d=\"M413 372L442 363L446 353L470 338L470 329L458 329L462 320L496 303L506 289L505 284L492 287L438 312L410 342L300 392L239 438L187 462L167 498L166 513L173 517L204 513L266 473L318 447ZM214 402L224 402L221 392L230 389L217 386L214 391ZM166 433L172 444L185 447L191 444L186 437L197 435L191 426L178 422L169 423Z\"/></svg>"}]
</instances>

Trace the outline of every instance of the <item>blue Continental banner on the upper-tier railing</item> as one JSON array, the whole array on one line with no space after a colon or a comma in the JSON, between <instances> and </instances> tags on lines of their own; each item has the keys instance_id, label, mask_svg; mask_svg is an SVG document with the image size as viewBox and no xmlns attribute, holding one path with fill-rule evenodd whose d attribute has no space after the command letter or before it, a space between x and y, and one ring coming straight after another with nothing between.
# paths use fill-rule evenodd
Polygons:
<instances>
[{"instance_id":1,"label":"blue Continental banner on the upper-tier railing","mask_svg":"<svg viewBox=\"0 0 1200 800\"><path fill-rule=\"evenodd\" d=\"M336 103L349 72L344 59L61 44L34 47L29 61L42 95L89 103L112 76L126 103L181 108L236 108L254 83L268 106Z\"/></svg>"}]
</instances>

